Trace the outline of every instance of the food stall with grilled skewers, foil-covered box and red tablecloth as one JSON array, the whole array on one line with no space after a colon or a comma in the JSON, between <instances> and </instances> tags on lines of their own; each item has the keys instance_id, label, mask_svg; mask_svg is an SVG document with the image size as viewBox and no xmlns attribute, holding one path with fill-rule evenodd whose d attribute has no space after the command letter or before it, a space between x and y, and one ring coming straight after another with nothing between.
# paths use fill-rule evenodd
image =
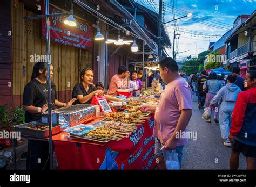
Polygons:
<instances>
[{"instance_id":1,"label":"food stall with grilled skewers, foil-covered box and red tablecloth","mask_svg":"<svg viewBox=\"0 0 256 187\"><path fill-rule=\"evenodd\" d=\"M73 105L53 110L52 141L58 169L156 167L152 137L154 113L142 113L139 107L157 102L158 98L150 94L132 97L120 107L121 112L111 110L100 117L96 117L96 105ZM45 123L22 124L16 126L16 130L21 131L24 138L48 141L46 117L42 117Z\"/></svg>"}]
</instances>

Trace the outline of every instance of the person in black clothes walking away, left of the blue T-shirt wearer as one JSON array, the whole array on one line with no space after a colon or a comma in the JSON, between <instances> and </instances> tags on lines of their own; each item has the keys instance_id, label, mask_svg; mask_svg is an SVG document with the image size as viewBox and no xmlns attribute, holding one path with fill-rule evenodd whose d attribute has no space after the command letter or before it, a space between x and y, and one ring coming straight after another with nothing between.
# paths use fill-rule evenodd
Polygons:
<instances>
[{"instance_id":1,"label":"person in black clothes walking away, left of the blue T-shirt wearer","mask_svg":"<svg viewBox=\"0 0 256 187\"><path fill-rule=\"evenodd\" d=\"M198 84L198 109L203 109L205 105L205 97L206 93L203 92L203 85L205 81L208 80L208 77L206 76L206 71L201 71L201 76L197 79Z\"/></svg>"}]
</instances>

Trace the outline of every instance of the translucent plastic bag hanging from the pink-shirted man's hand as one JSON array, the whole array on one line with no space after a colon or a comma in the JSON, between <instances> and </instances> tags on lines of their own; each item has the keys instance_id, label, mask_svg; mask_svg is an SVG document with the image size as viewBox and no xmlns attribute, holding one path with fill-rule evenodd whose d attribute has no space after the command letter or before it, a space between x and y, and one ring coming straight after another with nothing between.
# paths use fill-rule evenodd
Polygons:
<instances>
[{"instance_id":1,"label":"translucent plastic bag hanging from the pink-shirted man's hand","mask_svg":"<svg viewBox=\"0 0 256 187\"><path fill-rule=\"evenodd\" d=\"M169 169L169 170L180 169L179 159L178 159L176 150L172 150L172 151L163 150L163 151L164 151L164 160L165 160L166 169Z\"/></svg>"}]
</instances>

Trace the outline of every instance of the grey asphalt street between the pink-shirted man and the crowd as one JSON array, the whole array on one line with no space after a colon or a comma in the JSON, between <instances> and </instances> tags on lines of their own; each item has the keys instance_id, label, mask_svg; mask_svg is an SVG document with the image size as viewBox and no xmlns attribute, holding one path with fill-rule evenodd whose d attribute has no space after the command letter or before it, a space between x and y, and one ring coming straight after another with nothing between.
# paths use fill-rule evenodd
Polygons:
<instances>
[{"instance_id":1,"label":"grey asphalt street between the pink-shirted man and the crowd","mask_svg":"<svg viewBox=\"0 0 256 187\"><path fill-rule=\"evenodd\" d=\"M193 96L193 114L187 126L188 131L197 132L197 140L189 139L184 146L182 169L229 169L231 148L223 145L219 125L206 123L201 118L204 109L198 109ZM246 169L246 159L240 154L239 169Z\"/></svg>"}]
</instances>

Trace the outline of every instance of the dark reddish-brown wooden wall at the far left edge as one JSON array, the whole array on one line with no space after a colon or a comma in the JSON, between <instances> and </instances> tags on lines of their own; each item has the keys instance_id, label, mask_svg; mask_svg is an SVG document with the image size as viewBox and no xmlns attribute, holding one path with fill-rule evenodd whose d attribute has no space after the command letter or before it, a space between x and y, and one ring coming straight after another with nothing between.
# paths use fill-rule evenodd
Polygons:
<instances>
[{"instance_id":1,"label":"dark reddish-brown wooden wall at the far left edge","mask_svg":"<svg viewBox=\"0 0 256 187\"><path fill-rule=\"evenodd\" d=\"M0 6L0 105L12 105L11 3L1 0Z\"/></svg>"}]
</instances>

